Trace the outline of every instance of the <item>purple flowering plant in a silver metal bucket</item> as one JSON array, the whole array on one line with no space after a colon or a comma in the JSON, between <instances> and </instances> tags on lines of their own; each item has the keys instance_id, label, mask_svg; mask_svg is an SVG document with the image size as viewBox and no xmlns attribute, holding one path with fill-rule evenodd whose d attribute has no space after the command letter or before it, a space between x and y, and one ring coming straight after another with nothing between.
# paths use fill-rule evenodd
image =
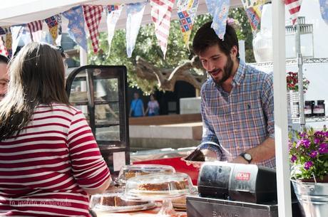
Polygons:
<instances>
[{"instance_id":1,"label":"purple flowering plant in a silver metal bucket","mask_svg":"<svg viewBox=\"0 0 328 217\"><path fill-rule=\"evenodd\" d=\"M295 194L304 216L326 216L328 212L328 131L306 129L290 134L289 157Z\"/></svg>"}]
</instances>

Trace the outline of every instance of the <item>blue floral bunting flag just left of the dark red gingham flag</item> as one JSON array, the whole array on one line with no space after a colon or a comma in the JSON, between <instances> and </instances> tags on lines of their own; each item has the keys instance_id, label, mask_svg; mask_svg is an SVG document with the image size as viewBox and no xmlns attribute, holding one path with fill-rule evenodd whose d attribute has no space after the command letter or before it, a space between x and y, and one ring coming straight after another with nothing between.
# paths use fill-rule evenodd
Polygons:
<instances>
[{"instance_id":1,"label":"blue floral bunting flag just left of the dark red gingham flag","mask_svg":"<svg viewBox=\"0 0 328 217\"><path fill-rule=\"evenodd\" d=\"M63 16L68 19L68 35L70 38L87 51L82 6L76 6L63 12Z\"/></svg>"}]
</instances>

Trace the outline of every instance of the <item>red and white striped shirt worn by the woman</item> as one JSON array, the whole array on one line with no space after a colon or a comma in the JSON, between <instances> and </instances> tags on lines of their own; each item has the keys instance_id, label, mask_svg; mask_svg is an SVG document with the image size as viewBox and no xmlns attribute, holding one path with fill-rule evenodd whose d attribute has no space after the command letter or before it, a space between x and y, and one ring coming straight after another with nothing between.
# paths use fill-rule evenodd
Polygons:
<instances>
[{"instance_id":1,"label":"red and white striped shirt worn by the woman","mask_svg":"<svg viewBox=\"0 0 328 217\"><path fill-rule=\"evenodd\" d=\"M0 216L90 216L83 189L109 179L83 113L52 105L0 142Z\"/></svg>"}]
</instances>

